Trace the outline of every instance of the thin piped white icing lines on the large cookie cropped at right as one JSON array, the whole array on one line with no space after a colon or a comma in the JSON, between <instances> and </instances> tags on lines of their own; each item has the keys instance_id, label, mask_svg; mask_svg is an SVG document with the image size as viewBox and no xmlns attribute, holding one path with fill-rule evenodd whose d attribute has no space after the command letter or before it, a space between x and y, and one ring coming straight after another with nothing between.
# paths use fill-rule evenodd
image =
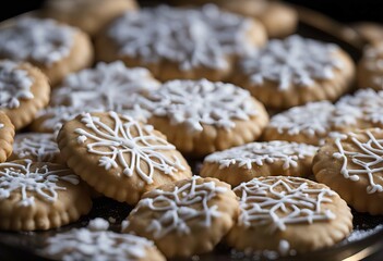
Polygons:
<instances>
[{"instance_id":1,"label":"thin piped white icing lines on the large cookie cropped at right","mask_svg":"<svg viewBox=\"0 0 383 261\"><path fill-rule=\"evenodd\" d=\"M349 151L343 146L342 139L335 139L338 152L333 153L335 159L343 159L340 174L352 182L358 182L360 175L367 175L369 185L367 186L368 194L382 192L383 187L375 183L375 173L381 173L383 167L383 139L376 139L370 130L366 130L369 140L362 142L357 139L356 134L349 133L354 145L357 146L359 151ZM349 163L357 165L358 169L351 169Z\"/></svg>"}]
</instances>

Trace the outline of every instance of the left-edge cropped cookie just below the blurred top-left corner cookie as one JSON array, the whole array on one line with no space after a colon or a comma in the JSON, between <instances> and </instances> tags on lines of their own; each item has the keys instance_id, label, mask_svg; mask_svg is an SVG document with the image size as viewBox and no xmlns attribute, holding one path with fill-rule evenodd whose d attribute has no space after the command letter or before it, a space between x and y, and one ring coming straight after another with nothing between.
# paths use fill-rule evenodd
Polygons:
<instances>
[{"instance_id":1,"label":"left-edge cropped cookie just below the blurred top-left corner cookie","mask_svg":"<svg viewBox=\"0 0 383 261\"><path fill-rule=\"evenodd\" d=\"M0 94L0 111L20 129L48 104L50 86L47 77L32 64L1 60Z\"/></svg>"}]
</instances>

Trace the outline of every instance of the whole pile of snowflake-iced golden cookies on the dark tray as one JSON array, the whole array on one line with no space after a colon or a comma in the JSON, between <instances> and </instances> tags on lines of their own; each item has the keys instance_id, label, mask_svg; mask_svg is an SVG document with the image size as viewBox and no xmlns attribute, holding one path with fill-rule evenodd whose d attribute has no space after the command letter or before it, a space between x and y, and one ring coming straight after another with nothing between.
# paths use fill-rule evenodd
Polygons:
<instances>
[{"instance_id":1,"label":"whole pile of snowflake-iced golden cookies on the dark tray","mask_svg":"<svg viewBox=\"0 0 383 261\"><path fill-rule=\"evenodd\" d=\"M378 49L367 74L295 34L292 8L240 2L57 0L0 28L0 229L74 224L107 197L133 208L120 232L95 219L38 253L288 257L345 239L351 208L382 214ZM373 89L354 92L357 70Z\"/></svg>"}]
</instances>

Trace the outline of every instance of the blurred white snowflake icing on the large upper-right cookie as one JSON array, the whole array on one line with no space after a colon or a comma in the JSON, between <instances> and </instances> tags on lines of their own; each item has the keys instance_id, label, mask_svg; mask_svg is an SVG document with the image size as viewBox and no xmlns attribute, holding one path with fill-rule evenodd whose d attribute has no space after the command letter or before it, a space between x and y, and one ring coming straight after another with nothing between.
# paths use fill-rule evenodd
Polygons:
<instances>
[{"instance_id":1,"label":"blurred white snowflake icing on the large upper-right cookie","mask_svg":"<svg viewBox=\"0 0 383 261\"><path fill-rule=\"evenodd\" d=\"M298 35L284 40L271 40L255 55L244 59L241 67L254 87L264 80L278 83L279 90L292 86L313 87L315 79L332 79L343 63L335 54L335 45L308 39Z\"/></svg>"}]
</instances>

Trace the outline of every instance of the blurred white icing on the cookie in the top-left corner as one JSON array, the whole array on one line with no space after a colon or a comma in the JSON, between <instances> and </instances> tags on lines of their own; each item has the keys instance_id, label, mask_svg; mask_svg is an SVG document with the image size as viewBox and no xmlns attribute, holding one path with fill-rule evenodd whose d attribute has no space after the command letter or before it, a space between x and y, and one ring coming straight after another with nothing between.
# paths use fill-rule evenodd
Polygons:
<instances>
[{"instance_id":1,"label":"blurred white icing on the cookie in the top-left corner","mask_svg":"<svg viewBox=\"0 0 383 261\"><path fill-rule=\"evenodd\" d=\"M53 20L20 18L13 26L0 30L0 55L50 66L70 54L74 32L73 27L59 25Z\"/></svg>"}]
</instances>

